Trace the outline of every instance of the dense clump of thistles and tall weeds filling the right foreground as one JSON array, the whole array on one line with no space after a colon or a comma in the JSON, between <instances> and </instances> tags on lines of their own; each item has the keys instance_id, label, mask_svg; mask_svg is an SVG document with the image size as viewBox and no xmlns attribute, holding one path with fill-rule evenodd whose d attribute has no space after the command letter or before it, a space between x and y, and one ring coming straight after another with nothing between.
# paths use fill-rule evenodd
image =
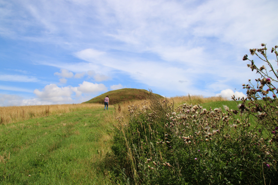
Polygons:
<instances>
[{"instance_id":1,"label":"dense clump of thistles and tall weeds filling the right foreground","mask_svg":"<svg viewBox=\"0 0 278 185\"><path fill-rule=\"evenodd\" d=\"M252 50L254 55L257 52L275 72L265 45ZM276 184L278 92L274 82L278 77L276 72L270 77L264 66L257 68L250 61L252 70L260 71L262 77L256 79L257 88L244 85L246 99L233 96L238 105L235 110L223 105L224 113L222 108L204 109L189 103L174 108L167 99L151 97L150 106L146 101L129 106L128 120L117 117L112 150L125 168L128 183ZM255 123L250 122L251 115Z\"/></svg>"}]
</instances>

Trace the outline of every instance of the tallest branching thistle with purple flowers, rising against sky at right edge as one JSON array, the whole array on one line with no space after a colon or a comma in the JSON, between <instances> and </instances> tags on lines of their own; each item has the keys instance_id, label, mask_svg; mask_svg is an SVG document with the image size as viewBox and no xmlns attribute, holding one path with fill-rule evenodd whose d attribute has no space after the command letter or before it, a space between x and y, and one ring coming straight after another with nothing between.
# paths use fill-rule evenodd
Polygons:
<instances>
[{"instance_id":1,"label":"tallest branching thistle with purple flowers, rising against sky at right edge","mask_svg":"<svg viewBox=\"0 0 278 185\"><path fill-rule=\"evenodd\" d=\"M261 44L260 49L250 49L252 56L257 56L265 65L257 66L254 60L250 60L248 55L244 55L243 60L248 60L251 63L247 66L259 74L259 78L255 79L255 83L251 83L249 79L248 84L242 84L246 89L247 98L242 99L243 103L239 104L238 108L241 112L246 112L257 117L256 127L260 132L264 132L272 141L278 141L278 101L277 101L277 82L278 70L274 67L278 65L278 46L272 47L271 53L275 55L275 64L272 64L266 55L266 45ZM235 97L233 97L235 101ZM246 101L250 100L250 101Z\"/></svg>"}]
</instances>

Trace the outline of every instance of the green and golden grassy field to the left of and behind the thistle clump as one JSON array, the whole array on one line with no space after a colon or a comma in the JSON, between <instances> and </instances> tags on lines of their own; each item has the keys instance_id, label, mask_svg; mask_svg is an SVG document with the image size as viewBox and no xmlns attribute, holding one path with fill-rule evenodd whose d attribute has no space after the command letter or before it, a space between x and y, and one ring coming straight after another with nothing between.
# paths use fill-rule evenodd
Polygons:
<instances>
[{"instance_id":1,"label":"green and golden grassy field to the left of and behind the thistle clump","mask_svg":"<svg viewBox=\"0 0 278 185\"><path fill-rule=\"evenodd\" d=\"M207 109L222 105L236 108L234 101L219 100L223 99L202 96L170 99L175 106L200 103ZM85 103L1 107L1 117L13 115L14 119L0 124L0 184L116 184L111 182L114 172L110 167L120 165L114 164L111 154L114 131L110 128L115 117L122 116L128 122L130 103L142 107L142 102L122 103L121 109L115 107L116 111L113 106L104 111L103 105ZM27 115L34 112L36 118L30 119Z\"/></svg>"}]
</instances>

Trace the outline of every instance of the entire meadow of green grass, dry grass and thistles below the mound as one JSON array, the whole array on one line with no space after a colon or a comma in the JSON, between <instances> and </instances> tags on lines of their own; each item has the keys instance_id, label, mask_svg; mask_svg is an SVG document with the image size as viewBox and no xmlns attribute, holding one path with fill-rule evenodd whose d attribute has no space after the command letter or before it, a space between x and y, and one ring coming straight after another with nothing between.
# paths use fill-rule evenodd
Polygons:
<instances>
[{"instance_id":1,"label":"entire meadow of green grass, dry grass and thistles below the mound","mask_svg":"<svg viewBox=\"0 0 278 185\"><path fill-rule=\"evenodd\" d=\"M261 75L246 98L2 108L1 184L277 184L278 75L261 46L250 53L271 70L243 57Z\"/></svg>"}]
</instances>

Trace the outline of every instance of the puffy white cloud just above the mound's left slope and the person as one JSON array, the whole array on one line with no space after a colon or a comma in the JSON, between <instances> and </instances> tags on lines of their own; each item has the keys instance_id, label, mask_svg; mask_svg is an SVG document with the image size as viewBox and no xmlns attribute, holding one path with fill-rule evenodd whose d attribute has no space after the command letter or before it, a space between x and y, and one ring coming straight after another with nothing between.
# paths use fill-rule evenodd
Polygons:
<instances>
[{"instance_id":1,"label":"puffy white cloud just above the mound's left slope and the person","mask_svg":"<svg viewBox=\"0 0 278 185\"><path fill-rule=\"evenodd\" d=\"M96 92L107 91L107 87L104 84L97 84L97 83L83 81L82 84L79 84L77 90L83 93L96 93Z\"/></svg>"}]
</instances>

